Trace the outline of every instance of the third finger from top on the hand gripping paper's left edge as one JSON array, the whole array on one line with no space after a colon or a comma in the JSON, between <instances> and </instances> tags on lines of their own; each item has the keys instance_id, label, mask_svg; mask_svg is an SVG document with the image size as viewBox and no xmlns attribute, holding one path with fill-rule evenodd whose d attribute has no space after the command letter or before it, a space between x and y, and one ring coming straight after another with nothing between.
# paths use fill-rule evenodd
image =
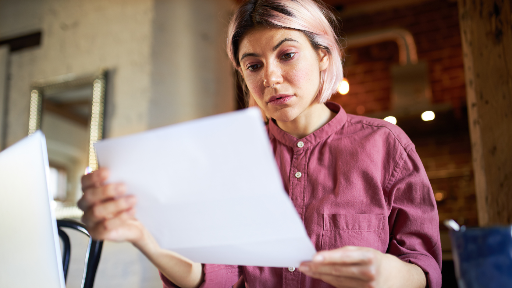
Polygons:
<instances>
[{"instance_id":1,"label":"third finger from top on the hand gripping paper's left edge","mask_svg":"<svg viewBox=\"0 0 512 288\"><path fill-rule=\"evenodd\" d=\"M98 222L114 217L115 215L132 208L136 203L133 195L123 196L116 200L98 203L87 209L82 216L86 226L93 227Z\"/></svg>"}]
</instances>

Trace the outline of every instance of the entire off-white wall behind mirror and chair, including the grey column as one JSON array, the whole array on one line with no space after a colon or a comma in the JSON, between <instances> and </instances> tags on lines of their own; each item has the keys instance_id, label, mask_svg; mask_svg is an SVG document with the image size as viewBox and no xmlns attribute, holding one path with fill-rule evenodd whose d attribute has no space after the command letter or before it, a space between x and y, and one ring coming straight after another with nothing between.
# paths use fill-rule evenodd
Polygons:
<instances>
[{"instance_id":1,"label":"entire off-white wall behind mirror and chair, including the grey column","mask_svg":"<svg viewBox=\"0 0 512 288\"><path fill-rule=\"evenodd\" d=\"M39 47L9 56L7 145L27 135L33 80L101 67L109 69L107 137L234 109L223 48L232 3L0 1L0 38L42 31ZM130 244L109 242L103 249L96 287L161 287L157 270ZM76 282L79 269L73 271L69 281Z\"/></svg>"}]
</instances>

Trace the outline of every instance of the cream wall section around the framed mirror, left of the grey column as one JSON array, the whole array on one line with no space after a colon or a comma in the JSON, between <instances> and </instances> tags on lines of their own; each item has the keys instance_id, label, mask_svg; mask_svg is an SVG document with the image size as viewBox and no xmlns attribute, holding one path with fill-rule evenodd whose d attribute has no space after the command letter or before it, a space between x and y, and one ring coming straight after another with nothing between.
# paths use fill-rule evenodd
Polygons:
<instances>
[{"instance_id":1,"label":"cream wall section around the framed mirror, left of the grey column","mask_svg":"<svg viewBox=\"0 0 512 288\"><path fill-rule=\"evenodd\" d=\"M7 144L27 135L31 81L101 67L114 70L109 136L146 129L153 3L49 0L42 6L40 47L11 54Z\"/></svg>"}]
</instances>

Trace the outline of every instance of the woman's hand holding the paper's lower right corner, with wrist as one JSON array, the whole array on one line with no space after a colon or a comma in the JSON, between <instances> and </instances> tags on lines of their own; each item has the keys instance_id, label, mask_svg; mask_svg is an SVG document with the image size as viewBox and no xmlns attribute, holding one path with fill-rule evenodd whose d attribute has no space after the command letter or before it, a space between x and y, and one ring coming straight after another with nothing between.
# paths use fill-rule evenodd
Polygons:
<instances>
[{"instance_id":1,"label":"woman's hand holding the paper's lower right corner, with wrist","mask_svg":"<svg viewBox=\"0 0 512 288\"><path fill-rule=\"evenodd\" d=\"M424 288L424 272L415 264L372 248L345 246L318 252L299 270L338 288Z\"/></svg>"}]
</instances>

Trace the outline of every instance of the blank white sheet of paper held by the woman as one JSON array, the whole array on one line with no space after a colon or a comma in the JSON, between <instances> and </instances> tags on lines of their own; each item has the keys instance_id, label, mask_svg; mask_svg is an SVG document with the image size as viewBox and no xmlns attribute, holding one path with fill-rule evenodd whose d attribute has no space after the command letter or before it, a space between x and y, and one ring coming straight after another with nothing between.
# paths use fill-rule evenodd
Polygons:
<instances>
[{"instance_id":1,"label":"blank white sheet of paper held by the woman","mask_svg":"<svg viewBox=\"0 0 512 288\"><path fill-rule=\"evenodd\" d=\"M316 252L249 108L95 144L161 247L201 263L297 267Z\"/></svg>"}]
</instances>

